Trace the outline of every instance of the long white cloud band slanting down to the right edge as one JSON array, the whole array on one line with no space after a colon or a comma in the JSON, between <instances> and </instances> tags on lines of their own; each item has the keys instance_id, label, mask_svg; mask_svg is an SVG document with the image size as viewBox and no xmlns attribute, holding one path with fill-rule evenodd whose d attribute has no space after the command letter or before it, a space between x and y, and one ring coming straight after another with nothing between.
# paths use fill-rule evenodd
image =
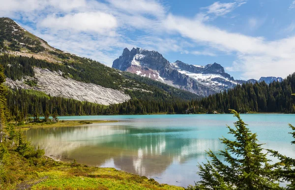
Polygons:
<instances>
[{"instance_id":1,"label":"long white cloud band slanting down to the right edge","mask_svg":"<svg viewBox=\"0 0 295 190\"><path fill-rule=\"evenodd\" d=\"M295 36L266 41L262 37L231 33L198 20L171 14L165 23L167 29L199 44L226 53L236 53L236 61L227 69L241 71L244 78L258 79L269 75L286 77L295 71L295 64L292 63L295 60Z\"/></svg>"}]
</instances>

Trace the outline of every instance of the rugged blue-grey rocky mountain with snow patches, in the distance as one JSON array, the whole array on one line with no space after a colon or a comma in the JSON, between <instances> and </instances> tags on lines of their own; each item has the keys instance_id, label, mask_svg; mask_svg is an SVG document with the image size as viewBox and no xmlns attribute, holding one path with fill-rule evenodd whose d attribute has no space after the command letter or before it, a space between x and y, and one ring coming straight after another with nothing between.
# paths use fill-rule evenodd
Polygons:
<instances>
[{"instance_id":1,"label":"rugged blue-grey rocky mountain with snow patches, in the distance","mask_svg":"<svg viewBox=\"0 0 295 190\"><path fill-rule=\"evenodd\" d=\"M131 51L125 48L122 55L114 60L112 67L161 81L200 96L215 94L242 83L235 81L220 64L199 66L179 60L171 63L162 54L141 48L133 48Z\"/></svg>"}]
</instances>

